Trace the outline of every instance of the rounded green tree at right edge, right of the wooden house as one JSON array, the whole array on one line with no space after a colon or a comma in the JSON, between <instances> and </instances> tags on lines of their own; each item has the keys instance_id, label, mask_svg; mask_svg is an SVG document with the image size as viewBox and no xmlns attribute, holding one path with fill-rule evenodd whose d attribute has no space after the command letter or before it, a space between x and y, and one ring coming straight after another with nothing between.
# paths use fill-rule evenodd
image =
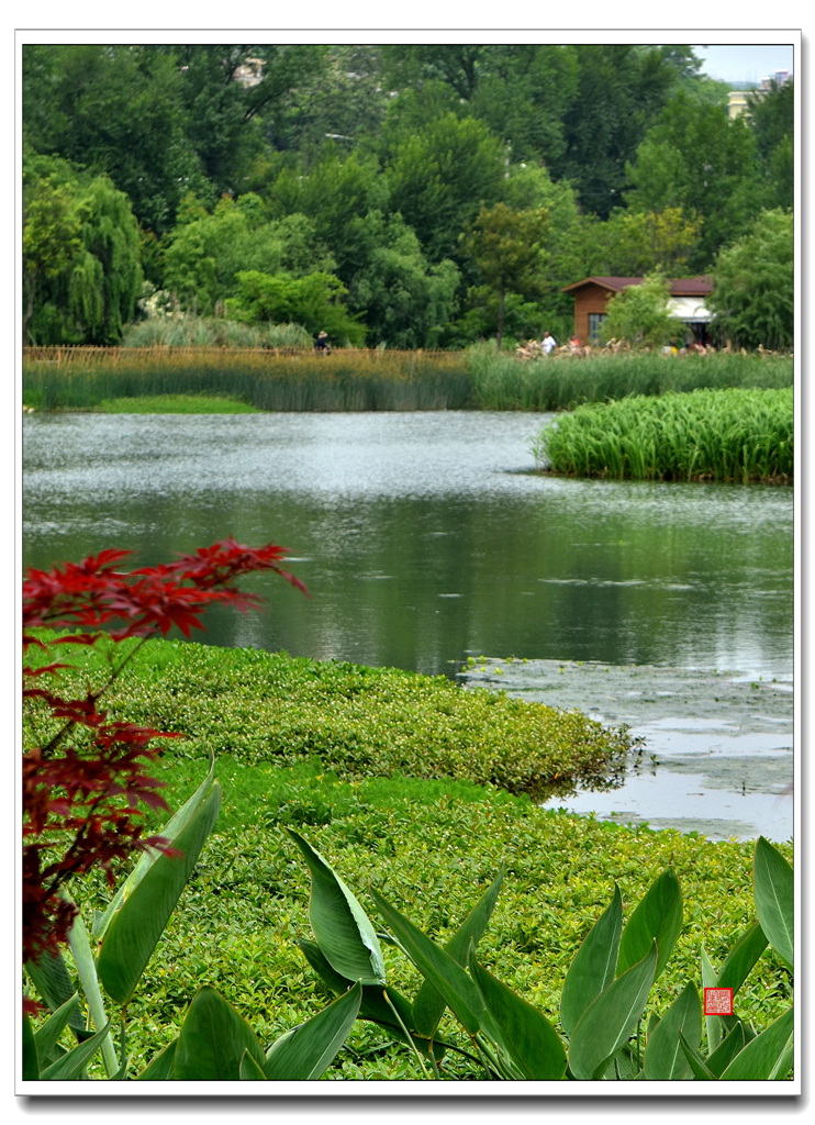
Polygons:
<instances>
[{"instance_id":1,"label":"rounded green tree at right edge, right of the wooden house","mask_svg":"<svg viewBox=\"0 0 815 1125\"><path fill-rule=\"evenodd\" d=\"M743 348L787 349L795 341L794 219L762 213L752 228L722 250L709 297L714 331Z\"/></svg>"}]
</instances>

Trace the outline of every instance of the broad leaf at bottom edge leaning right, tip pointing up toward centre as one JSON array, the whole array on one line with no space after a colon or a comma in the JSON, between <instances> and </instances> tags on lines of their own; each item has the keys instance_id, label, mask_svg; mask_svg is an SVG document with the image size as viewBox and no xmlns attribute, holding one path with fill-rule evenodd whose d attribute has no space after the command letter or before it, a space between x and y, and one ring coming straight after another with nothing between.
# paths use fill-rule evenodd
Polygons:
<instances>
[{"instance_id":1,"label":"broad leaf at bottom edge leaning right, tip pointing up toward centre","mask_svg":"<svg viewBox=\"0 0 815 1125\"><path fill-rule=\"evenodd\" d=\"M353 1027L361 1000L357 981L345 996L273 1043L262 1062L266 1079L308 1082L325 1073Z\"/></svg>"}]
</instances>

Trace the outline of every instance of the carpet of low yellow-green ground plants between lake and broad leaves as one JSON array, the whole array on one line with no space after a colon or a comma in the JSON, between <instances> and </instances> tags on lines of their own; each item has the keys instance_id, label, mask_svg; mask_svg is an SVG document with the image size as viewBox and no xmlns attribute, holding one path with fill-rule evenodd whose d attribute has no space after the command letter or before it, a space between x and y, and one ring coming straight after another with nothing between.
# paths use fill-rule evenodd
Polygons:
<instances>
[{"instance_id":1,"label":"carpet of low yellow-green ground plants between lake and broad leaves","mask_svg":"<svg viewBox=\"0 0 815 1125\"><path fill-rule=\"evenodd\" d=\"M69 658L84 662L72 677L90 683L102 674L91 654ZM166 641L150 642L128 666L111 710L187 732L157 766L173 807L203 777L210 752L224 789L216 834L129 1006L136 1060L172 1038L205 981L264 1042L324 1006L325 991L295 945L309 935L309 880L284 826L335 864L373 917L370 886L442 940L504 866L480 956L554 1023L567 968L615 882L627 915L667 866L680 880L685 927L654 989L659 1009L688 980L700 984L703 944L719 965L753 916L752 845L547 812L501 788L517 781L520 762L527 776L532 762L537 773L544 763L550 770L560 760L569 772L583 762L586 732L596 726L588 720L389 669ZM612 738L607 749L615 745ZM98 894L106 898L101 881ZM84 906L97 901L89 889ZM414 994L405 958L393 964L404 974L395 986ZM740 1008L764 1024L789 991L767 953ZM383 1046L378 1029L357 1025L327 1077L419 1077L407 1050ZM455 1060L449 1076L478 1077Z\"/></svg>"}]
</instances>

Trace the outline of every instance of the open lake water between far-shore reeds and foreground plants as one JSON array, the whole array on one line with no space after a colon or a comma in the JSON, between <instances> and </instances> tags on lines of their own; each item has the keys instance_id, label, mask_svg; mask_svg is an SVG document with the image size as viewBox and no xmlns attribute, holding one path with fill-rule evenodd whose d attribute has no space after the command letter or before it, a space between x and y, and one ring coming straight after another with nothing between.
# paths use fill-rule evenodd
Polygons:
<instances>
[{"instance_id":1,"label":"open lake water between far-shore reeds and foreground plants","mask_svg":"<svg viewBox=\"0 0 815 1125\"><path fill-rule=\"evenodd\" d=\"M210 644L446 675L486 656L789 684L791 489L540 476L551 417L27 415L24 561L127 547L144 565L232 534L286 544L311 597L257 576L264 609L214 612Z\"/></svg>"}]
</instances>

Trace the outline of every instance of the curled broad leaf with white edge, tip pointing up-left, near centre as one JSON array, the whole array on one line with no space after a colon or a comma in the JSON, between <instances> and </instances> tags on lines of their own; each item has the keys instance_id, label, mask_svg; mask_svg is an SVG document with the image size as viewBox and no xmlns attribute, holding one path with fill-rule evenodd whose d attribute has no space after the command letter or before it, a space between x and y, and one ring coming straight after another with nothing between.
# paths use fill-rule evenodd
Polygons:
<instances>
[{"instance_id":1,"label":"curled broad leaf with white edge, tip pointing up-left, near centre","mask_svg":"<svg viewBox=\"0 0 815 1125\"><path fill-rule=\"evenodd\" d=\"M384 984L384 958L371 921L333 867L291 828L311 873L308 917L329 964L348 980Z\"/></svg>"}]
</instances>

